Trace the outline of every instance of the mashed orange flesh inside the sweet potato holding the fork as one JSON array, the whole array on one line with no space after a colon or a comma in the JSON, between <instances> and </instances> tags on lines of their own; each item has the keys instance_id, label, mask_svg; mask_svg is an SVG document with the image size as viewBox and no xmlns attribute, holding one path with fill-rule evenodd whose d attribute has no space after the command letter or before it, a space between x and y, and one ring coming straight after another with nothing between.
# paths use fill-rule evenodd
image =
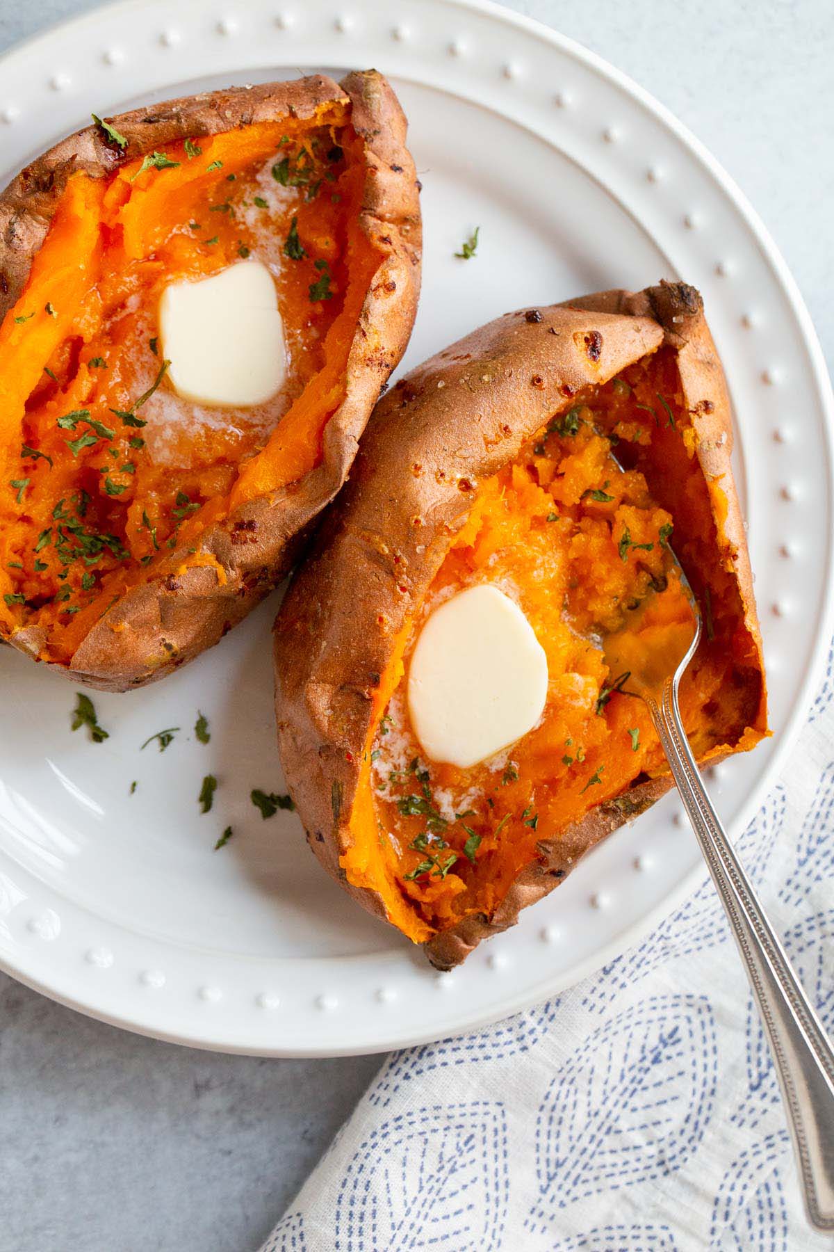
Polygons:
<instances>
[{"instance_id":1,"label":"mashed orange flesh inside the sweet potato holding the fork","mask_svg":"<svg viewBox=\"0 0 834 1252\"><path fill-rule=\"evenodd\" d=\"M665 771L628 674L606 670L600 632L616 629L623 607L638 601L650 605L641 631L651 646L689 620L666 547L675 542L675 517L679 552L700 570L695 590L709 605L701 647L680 689L693 749L704 756L736 742L751 725L756 692L746 689L730 644L738 591L716 556L710 502L675 379L674 358L661 351L578 397L514 463L480 483L429 588L421 620L463 588L511 585L549 670L538 724L509 750L471 765L429 759L406 679L381 711L368 775L378 846L431 929L468 913L491 913L535 859L539 840L558 838L600 801ZM614 461L614 442L618 459L634 468ZM654 490L638 466L660 471L651 473ZM415 626L406 674L421 637ZM364 856L358 831L341 858L349 880L354 873L360 878Z\"/></svg>"}]
</instances>

